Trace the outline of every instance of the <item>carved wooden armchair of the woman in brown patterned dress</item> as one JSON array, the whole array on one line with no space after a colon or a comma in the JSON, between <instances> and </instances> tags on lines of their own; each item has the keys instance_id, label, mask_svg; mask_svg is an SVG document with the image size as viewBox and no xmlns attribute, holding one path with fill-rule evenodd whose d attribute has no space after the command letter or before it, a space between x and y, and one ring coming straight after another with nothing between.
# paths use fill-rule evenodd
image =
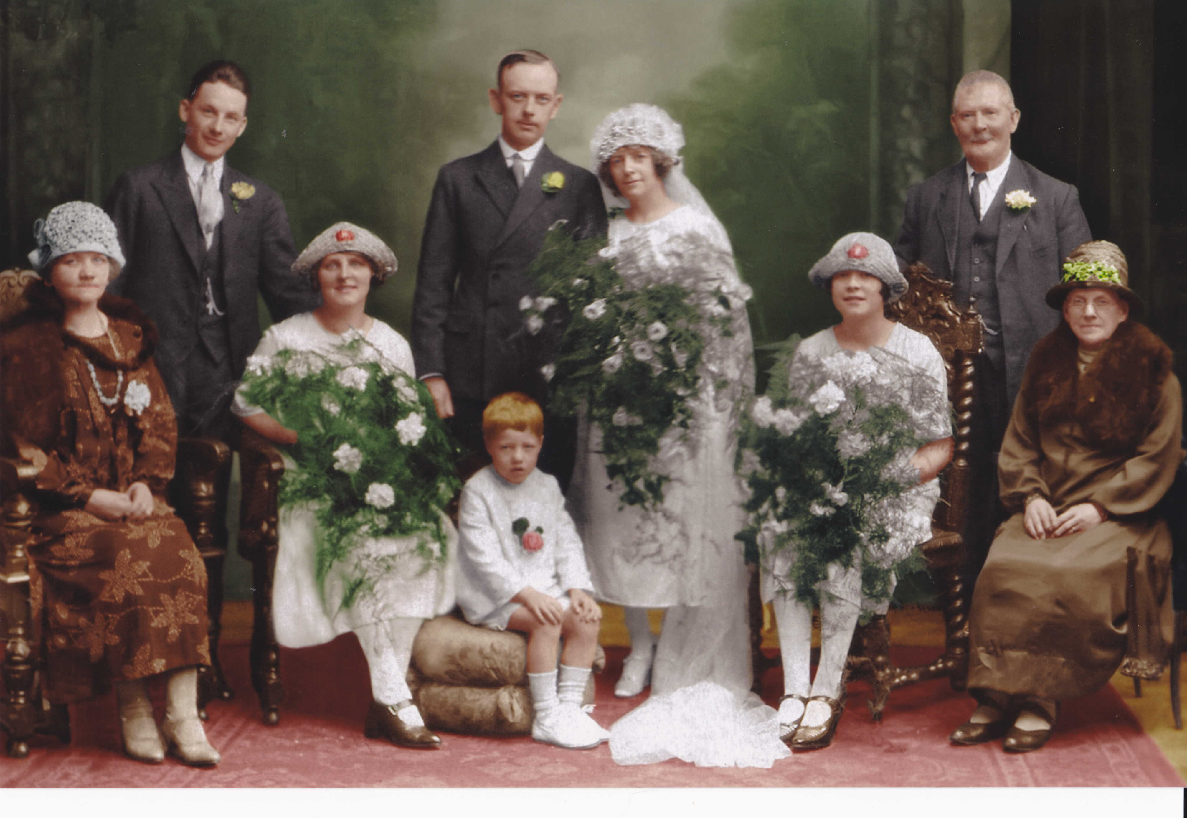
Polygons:
<instances>
[{"instance_id":1,"label":"carved wooden armchair of the woman in brown patterned dress","mask_svg":"<svg viewBox=\"0 0 1187 818\"><path fill-rule=\"evenodd\" d=\"M37 279L32 271L0 272L0 321L25 307L25 287ZM198 546L209 575L208 613L210 617L211 667L199 687L198 706L226 690L218 661L220 615L222 613L222 564L226 541L218 543L221 527L216 501L220 475L230 464L230 449L221 440L182 438L177 444L177 476L173 500ZM69 712L64 706L43 704L39 685L40 627L34 621L30 602L28 553L30 528L37 518L33 501L32 463L18 458L0 458L0 635L4 638L4 661L0 679L0 725L8 734L7 752L14 759L28 755L28 740L34 733L70 741ZM221 695L220 695L221 696Z\"/></svg>"}]
</instances>

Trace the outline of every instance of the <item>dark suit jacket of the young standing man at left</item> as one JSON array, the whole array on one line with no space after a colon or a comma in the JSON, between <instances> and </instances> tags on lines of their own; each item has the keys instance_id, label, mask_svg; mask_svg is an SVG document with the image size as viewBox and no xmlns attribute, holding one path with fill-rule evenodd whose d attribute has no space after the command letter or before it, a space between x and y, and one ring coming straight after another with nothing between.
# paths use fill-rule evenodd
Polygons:
<instances>
[{"instance_id":1,"label":"dark suit jacket of the young standing man at left","mask_svg":"<svg viewBox=\"0 0 1187 818\"><path fill-rule=\"evenodd\" d=\"M230 186L247 182L255 195L230 199ZM273 321L311 310L318 303L306 279L290 271L296 258L288 216L280 196L262 182L223 165L223 220L220 224L223 292L231 369L243 372L260 341L256 293ZM170 394L184 383L184 362L198 343L198 316L205 309L201 275L204 253L198 211L190 194L180 150L127 171L108 194L104 209L115 222L127 265L108 287L131 298L158 326L157 366Z\"/></svg>"}]
</instances>

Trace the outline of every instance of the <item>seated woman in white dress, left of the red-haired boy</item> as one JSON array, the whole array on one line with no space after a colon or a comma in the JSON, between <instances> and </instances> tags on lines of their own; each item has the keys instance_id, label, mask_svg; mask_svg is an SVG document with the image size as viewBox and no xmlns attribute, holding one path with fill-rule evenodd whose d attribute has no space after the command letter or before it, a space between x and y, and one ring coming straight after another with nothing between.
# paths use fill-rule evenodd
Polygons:
<instances>
[{"instance_id":1,"label":"seated woman in white dress, left of the red-haired boy","mask_svg":"<svg viewBox=\"0 0 1187 818\"><path fill-rule=\"evenodd\" d=\"M364 312L367 293L395 270L395 255L373 233L348 222L326 229L293 262L293 272L309 277L320 290L322 306L271 326L248 368L265 367L281 350L300 350L318 353L338 364L375 360L377 355L385 370L412 374L408 342ZM248 427L283 446L297 443L297 431L249 405L245 392L246 386L241 386L231 408ZM296 467L287 461L286 468ZM374 698L367 736L382 736L402 747L438 747L440 738L425 727L405 677L421 622L453 607L452 564L396 562L395 570L373 578L369 592L348 604L343 590L354 582L353 566L336 565L337 570L330 570L319 583L317 528L315 513L307 506L281 508L272 591L277 641L286 647L306 647L353 630L367 657ZM443 531L449 540L443 545L451 556L457 535L447 520ZM366 540L366 557L358 560L382 560L414 548L407 538L372 538ZM354 570L357 573L357 563Z\"/></svg>"}]
</instances>

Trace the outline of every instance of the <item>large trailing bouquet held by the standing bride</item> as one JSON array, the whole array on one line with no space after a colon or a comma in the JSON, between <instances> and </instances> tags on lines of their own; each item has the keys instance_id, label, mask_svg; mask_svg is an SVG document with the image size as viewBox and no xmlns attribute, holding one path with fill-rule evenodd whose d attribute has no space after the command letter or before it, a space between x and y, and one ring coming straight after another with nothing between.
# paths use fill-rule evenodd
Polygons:
<instances>
[{"instance_id":1,"label":"large trailing bouquet held by the standing bride","mask_svg":"<svg viewBox=\"0 0 1187 818\"><path fill-rule=\"evenodd\" d=\"M614 259L603 248L604 240L551 230L528 272L540 296L519 306L529 335L560 330L556 360L541 369L550 408L584 411L602 430L620 501L655 507L669 480L655 458L660 439L688 430L706 341L730 334L731 300L716 283L656 279L650 266L640 274L641 259Z\"/></svg>"}]
</instances>

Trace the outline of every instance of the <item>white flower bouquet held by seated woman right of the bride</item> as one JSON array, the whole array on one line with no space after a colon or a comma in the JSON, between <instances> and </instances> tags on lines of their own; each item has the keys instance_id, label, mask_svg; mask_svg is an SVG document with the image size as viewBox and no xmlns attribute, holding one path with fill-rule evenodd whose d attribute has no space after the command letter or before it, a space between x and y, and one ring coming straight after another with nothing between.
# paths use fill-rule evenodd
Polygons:
<instances>
[{"instance_id":1,"label":"white flower bouquet held by seated woman right of the bride","mask_svg":"<svg viewBox=\"0 0 1187 818\"><path fill-rule=\"evenodd\" d=\"M922 567L916 546L931 535L931 509L913 502L920 475L909 461L928 442L920 427L934 425L921 413L946 402L893 353L796 356L799 341L783 344L743 424L738 456L751 494L738 539L768 567L789 565L782 578L808 604L819 602L830 563L850 567L861 554L862 594L882 602L896 570ZM791 559L774 559L781 552Z\"/></svg>"}]
</instances>

